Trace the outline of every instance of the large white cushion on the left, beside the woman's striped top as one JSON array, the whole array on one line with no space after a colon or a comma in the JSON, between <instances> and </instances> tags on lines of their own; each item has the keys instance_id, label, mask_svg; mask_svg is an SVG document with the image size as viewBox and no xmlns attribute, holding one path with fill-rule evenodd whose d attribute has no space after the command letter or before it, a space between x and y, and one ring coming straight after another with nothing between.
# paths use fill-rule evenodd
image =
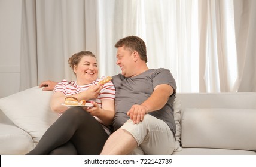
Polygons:
<instances>
[{"instance_id":1,"label":"large white cushion on the left, beside the woman's striped top","mask_svg":"<svg viewBox=\"0 0 256 167\"><path fill-rule=\"evenodd\" d=\"M50 109L51 94L36 86L1 98L0 109L16 126L28 132L34 143L38 143L57 119L57 113Z\"/></svg>"}]
</instances>

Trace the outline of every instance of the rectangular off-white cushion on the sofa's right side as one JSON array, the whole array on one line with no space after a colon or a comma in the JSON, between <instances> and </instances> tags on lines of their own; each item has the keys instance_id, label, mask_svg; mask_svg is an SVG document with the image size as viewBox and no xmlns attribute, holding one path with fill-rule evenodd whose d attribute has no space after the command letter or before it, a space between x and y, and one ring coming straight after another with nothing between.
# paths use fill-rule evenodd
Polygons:
<instances>
[{"instance_id":1,"label":"rectangular off-white cushion on the sofa's right side","mask_svg":"<svg viewBox=\"0 0 256 167\"><path fill-rule=\"evenodd\" d=\"M256 109L185 109L182 147L256 150Z\"/></svg>"}]
</instances>

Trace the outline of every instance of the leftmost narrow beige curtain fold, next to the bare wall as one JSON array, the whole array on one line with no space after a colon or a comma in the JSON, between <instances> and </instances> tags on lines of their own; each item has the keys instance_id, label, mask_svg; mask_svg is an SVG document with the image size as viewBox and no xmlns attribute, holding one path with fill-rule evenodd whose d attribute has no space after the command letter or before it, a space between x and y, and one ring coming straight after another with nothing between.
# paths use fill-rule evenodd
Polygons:
<instances>
[{"instance_id":1,"label":"leftmost narrow beige curtain fold, next to the bare wall","mask_svg":"<svg viewBox=\"0 0 256 167\"><path fill-rule=\"evenodd\" d=\"M36 2L22 2L20 91L38 85Z\"/></svg>"}]
</instances>

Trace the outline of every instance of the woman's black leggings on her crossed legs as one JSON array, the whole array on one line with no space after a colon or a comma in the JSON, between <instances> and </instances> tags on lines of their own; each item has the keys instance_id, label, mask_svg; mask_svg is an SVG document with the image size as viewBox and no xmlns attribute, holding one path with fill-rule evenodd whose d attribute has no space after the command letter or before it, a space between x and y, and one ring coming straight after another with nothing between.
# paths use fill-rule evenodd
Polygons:
<instances>
[{"instance_id":1,"label":"woman's black leggings on her crossed legs","mask_svg":"<svg viewBox=\"0 0 256 167\"><path fill-rule=\"evenodd\" d=\"M100 154L108 139L102 125L81 107L59 117L28 154Z\"/></svg>"}]
</instances>

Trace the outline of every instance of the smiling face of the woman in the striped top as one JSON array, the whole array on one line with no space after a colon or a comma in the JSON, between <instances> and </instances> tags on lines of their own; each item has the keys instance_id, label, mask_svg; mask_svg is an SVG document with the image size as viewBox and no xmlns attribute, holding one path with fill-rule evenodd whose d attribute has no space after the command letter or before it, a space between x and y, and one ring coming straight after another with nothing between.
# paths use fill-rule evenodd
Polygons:
<instances>
[{"instance_id":1,"label":"smiling face of the woman in the striped top","mask_svg":"<svg viewBox=\"0 0 256 167\"><path fill-rule=\"evenodd\" d=\"M74 72L77 76L77 84L90 84L98 77L98 67L95 57L85 55L79 63L74 66Z\"/></svg>"}]
</instances>

